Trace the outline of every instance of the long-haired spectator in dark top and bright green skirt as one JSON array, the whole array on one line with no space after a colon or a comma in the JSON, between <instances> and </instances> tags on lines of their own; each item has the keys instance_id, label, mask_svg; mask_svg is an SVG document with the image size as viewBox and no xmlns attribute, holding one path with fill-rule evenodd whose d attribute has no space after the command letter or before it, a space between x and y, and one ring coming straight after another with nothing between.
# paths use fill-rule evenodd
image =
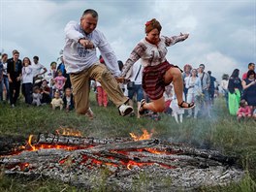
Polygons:
<instances>
[{"instance_id":1,"label":"long-haired spectator in dark top and bright green skirt","mask_svg":"<svg viewBox=\"0 0 256 192\"><path fill-rule=\"evenodd\" d=\"M242 91L240 70L235 69L229 79L229 112L236 115L240 107L240 93Z\"/></svg>"}]
</instances>

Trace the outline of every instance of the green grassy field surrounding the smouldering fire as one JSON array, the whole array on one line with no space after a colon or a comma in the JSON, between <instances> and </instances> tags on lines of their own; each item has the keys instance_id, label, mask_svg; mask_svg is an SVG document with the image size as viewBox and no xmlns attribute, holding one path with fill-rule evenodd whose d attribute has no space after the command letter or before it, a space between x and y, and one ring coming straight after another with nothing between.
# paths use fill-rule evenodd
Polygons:
<instances>
[{"instance_id":1,"label":"green grassy field surrounding the smouldering fire","mask_svg":"<svg viewBox=\"0 0 256 192\"><path fill-rule=\"evenodd\" d=\"M1 137L30 134L54 133L59 127L79 129L83 136L98 138L129 137L130 132L142 133L142 129L154 129L154 138L175 143L190 144L199 148L217 149L223 154L239 157L239 164L246 170L240 183L225 187L202 188L201 191L256 191L256 122L238 122L225 108L224 100L216 100L212 117L198 119L184 118L176 124L174 117L161 114L161 120L148 117L122 117L117 109L96 106L93 94L91 106L96 114L89 120L75 112L53 112L48 106L26 107L22 102L15 109L8 104L0 104ZM110 191L102 186L95 191ZM80 188L48 178L26 178L5 176L0 171L0 191L82 191ZM143 189L141 191L144 191Z\"/></svg>"}]
</instances>

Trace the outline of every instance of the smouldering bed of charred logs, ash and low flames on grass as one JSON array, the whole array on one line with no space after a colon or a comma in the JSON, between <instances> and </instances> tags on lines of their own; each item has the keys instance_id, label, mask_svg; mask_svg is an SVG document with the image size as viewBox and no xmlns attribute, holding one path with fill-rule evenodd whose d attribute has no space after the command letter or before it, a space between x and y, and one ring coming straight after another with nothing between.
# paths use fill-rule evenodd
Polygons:
<instances>
[{"instance_id":1,"label":"smouldering bed of charred logs, ash and low flames on grass","mask_svg":"<svg viewBox=\"0 0 256 192\"><path fill-rule=\"evenodd\" d=\"M243 176L234 158L149 139L146 131L142 137L114 139L63 133L30 136L25 146L2 155L5 173L49 176L86 189L111 185L117 191L196 189L237 182Z\"/></svg>"}]
</instances>

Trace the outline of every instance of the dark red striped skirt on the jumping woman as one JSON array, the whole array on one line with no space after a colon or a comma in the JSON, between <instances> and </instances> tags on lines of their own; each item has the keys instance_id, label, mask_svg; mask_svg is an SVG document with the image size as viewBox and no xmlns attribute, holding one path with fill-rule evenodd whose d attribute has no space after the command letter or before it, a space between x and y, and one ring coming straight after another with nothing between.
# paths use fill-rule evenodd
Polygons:
<instances>
[{"instance_id":1,"label":"dark red striped skirt on the jumping woman","mask_svg":"<svg viewBox=\"0 0 256 192\"><path fill-rule=\"evenodd\" d=\"M170 68L174 67L178 68L176 65L165 61L159 65L144 68L143 88L144 92L151 100L157 100L163 96L165 86L172 82L170 81L169 83L165 83L164 75Z\"/></svg>"}]
</instances>

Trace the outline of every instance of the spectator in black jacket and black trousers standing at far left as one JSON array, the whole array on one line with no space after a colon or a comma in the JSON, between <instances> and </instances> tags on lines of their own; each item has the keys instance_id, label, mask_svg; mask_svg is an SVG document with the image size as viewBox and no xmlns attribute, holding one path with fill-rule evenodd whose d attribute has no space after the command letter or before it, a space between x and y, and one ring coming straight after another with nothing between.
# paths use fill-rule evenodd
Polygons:
<instances>
[{"instance_id":1,"label":"spectator in black jacket and black trousers standing at far left","mask_svg":"<svg viewBox=\"0 0 256 192\"><path fill-rule=\"evenodd\" d=\"M13 57L7 60L7 75L9 80L9 96L10 105L12 108L16 107L16 100L19 96L21 68L22 62L19 57L19 52L13 50Z\"/></svg>"}]
</instances>

